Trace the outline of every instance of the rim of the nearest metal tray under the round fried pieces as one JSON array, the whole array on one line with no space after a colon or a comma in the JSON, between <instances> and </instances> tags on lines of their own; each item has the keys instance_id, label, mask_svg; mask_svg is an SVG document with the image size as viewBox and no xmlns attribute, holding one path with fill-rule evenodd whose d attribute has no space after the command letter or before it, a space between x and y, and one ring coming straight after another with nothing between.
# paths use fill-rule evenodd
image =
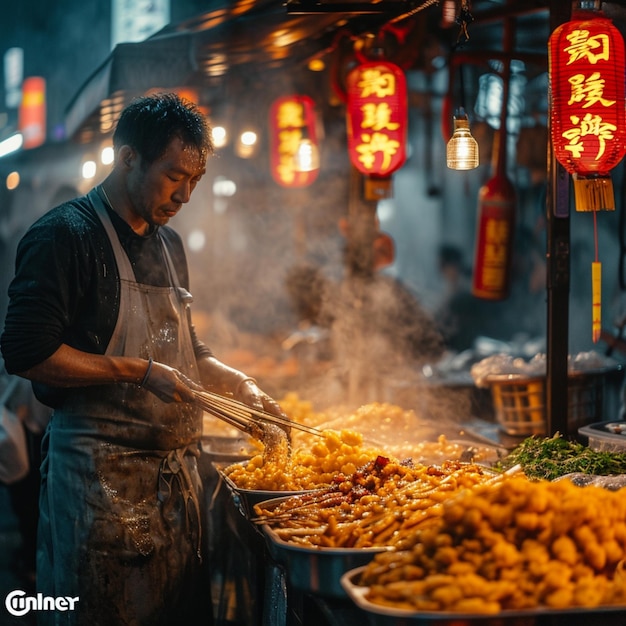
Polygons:
<instances>
[{"instance_id":1,"label":"rim of the nearest metal tray under the round fried pieces","mask_svg":"<svg viewBox=\"0 0 626 626\"><path fill-rule=\"evenodd\" d=\"M599 618L602 620L601 623L604 626L610 626L611 624L623 624L626 619L626 606L623 605L601 606L590 609L583 609L580 607L572 607L570 609L549 609L546 607L538 607L537 609L525 609L519 611L500 611L494 615L485 613L454 613L451 611L424 612L394 609L393 607L374 604L366 599L365 595L367 594L369 587L363 587L356 583L356 580L364 569L365 566L361 566L347 571L341 577L340 583L348 597L360 609L367 613L370 626L429 626L431 624L436 624L437 626L444 626L444 624L454 626L459 624L459 620L463 620L464 623L474 622L476 626L486 626L491 623L495 626L496 624L502 624L503 620L509 618L535 618L541 616L541 618L545 619L546 617L556 618L558 616L566 615L580 615L585 616L587 619L592 616L597 616L599 618L599 616L602 615L604 617ZM611 615L617 617L619 621L609 622L608 620ZM555 621L550 621L550 624L555 623ZM566 624L567 621L562 623ZM600 622L588 621L585 623L598 624Z\"/></svg>"}]
</instances>

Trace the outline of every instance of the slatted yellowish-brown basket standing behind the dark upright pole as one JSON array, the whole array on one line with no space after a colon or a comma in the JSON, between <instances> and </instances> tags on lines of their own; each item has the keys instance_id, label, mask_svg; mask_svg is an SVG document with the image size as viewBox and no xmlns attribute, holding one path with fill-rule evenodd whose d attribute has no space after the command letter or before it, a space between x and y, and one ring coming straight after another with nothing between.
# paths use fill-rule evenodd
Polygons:
<instances>
[{"instance_id":1,"label":"slatted yellowish-brown basket standing behind the dark upright pole","mask_svg":"<svg viewBox=\"0 0 626 626\"><path fill-rule=\"evenodd\" d=\"M488 376L496 419L509 435L546 434L546 379L524 376ZM568 428L603 419L604 372L570 374L568 378Z\"/></svg>"}]
</instances>

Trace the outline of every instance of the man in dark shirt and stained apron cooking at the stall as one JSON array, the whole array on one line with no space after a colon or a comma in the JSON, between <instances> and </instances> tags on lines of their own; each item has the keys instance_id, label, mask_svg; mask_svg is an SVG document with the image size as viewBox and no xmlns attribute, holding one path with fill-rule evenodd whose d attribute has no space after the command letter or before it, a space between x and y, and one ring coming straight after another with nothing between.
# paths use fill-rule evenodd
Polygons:
<instances>
[{"instance_id":1,"label":"man in dark shirt and stained apron cooking at the stall","mask_svg":"<svg viewBox=\"0 0 626 626\"><path fill-rule=\"evenodd\" d=\"M206 119L173 94L140 98L113 145L106 180L20 242L1 337L7 370L54 408L37 584L79 600L40 623L210 623L194 390L283 414L191 324L185 253L167 223L205 173Z\"/></svg>"}]
</instances>

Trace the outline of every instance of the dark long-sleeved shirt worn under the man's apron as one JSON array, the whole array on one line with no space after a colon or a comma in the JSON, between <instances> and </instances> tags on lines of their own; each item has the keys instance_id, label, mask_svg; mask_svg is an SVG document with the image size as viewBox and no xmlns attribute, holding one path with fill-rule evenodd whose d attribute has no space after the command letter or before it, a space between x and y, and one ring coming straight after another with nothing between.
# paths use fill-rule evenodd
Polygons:
<instances>
[{"instance_id":1,"label":"dark long-sleeved shirt worn under the man's apron","mask_svg":"<svg viewBox=\"0 0 626 626\"><path fill-rule=\"evenodd\" d=\"M160 232L180 285L189 290L180 236L164 226L137 235L107 209L139 283L159 287L170 280ZM65 343L104 354L119 309L119 275L113 249L86 196L66 202L37 220L19 243L15 277L0 347L9 373L26 371ZM210 355L191 328L197 357ZM56 402L55 402L56 404Z\"/></svg>"}]
</instances>

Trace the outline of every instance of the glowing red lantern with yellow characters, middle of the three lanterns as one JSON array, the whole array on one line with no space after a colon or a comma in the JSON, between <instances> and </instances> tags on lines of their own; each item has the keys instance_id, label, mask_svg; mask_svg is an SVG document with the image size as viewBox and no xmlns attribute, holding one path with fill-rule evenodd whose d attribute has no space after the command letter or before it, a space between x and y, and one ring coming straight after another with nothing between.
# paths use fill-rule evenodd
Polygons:
<instances>
[{"instance_id":1,"label":"glowing red lantern with yellow characters, middle of the three lanterns","mask_svg":"<svg viewBox=\"0 0 626 626\"><path fill-rule=\"evenodd\" d=\"M363 174L389 177L406 161L404 72L393 63L368 61L348 74L346 87L350 160Z\"/></svg>"}]
</instances>

